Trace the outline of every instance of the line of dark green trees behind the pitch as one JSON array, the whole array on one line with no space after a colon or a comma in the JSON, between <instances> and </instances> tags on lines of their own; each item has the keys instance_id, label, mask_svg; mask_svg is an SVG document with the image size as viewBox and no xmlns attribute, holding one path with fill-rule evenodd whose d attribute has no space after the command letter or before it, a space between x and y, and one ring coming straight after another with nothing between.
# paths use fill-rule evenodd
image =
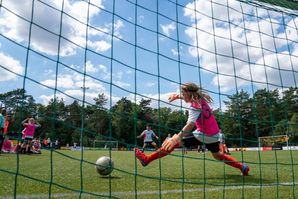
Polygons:
<instances>
[{"instance_id":1,"label":"line of dark green trees behind the pitch","mask_svg":"<svg viewBox=\"0 0 298 199\"><path fill-rule=\"evenodd\" d=\"M225 110L212 110L218 127L226 136L227 146L257 146L258 137L272 135L291 135L291 143L297 144L297 93L297 88L291 87L280 97L277 89L265 88L257 90L252 96L243 90L228 96L222 104ZM63 98L52 98L43 105L36 103L24 89L0 94L1 108L6 108L7 114L11 115L8 131L19 131L24 118L35 118L42 125L35 132L35 137L59 139L62 146L79 142L82 116L87 131L83 132L84 146L93 146L94 140L108 140L111 135L112 141L119 141L119 147L142 146L142 139L136 140L135 135L140 135L147 123L156 125L152 130L162 143L169 133L179 132L188 118L188 110L150 107L151 99L142 98L139 104L135 104L122 97L111 110L104 108L106 101L104 93L99 94L94 98L93 105L84 107L82 114L82 104L77 100L66 105Z\"/></svg>"}]
</instances>

